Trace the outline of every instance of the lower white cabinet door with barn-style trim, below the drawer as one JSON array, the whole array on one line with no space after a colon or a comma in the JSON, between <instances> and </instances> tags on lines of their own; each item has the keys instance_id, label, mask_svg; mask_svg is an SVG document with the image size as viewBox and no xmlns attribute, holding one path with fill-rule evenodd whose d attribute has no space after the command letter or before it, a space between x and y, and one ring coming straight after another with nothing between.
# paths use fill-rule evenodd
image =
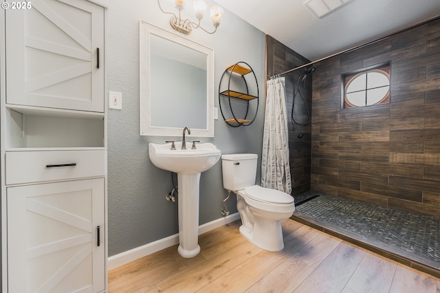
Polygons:
<instances>
[{"instance_id":1,"label":"lower white cabinet door with barn-style trim, below the drawer","mask_svg":"<svg viewBox=\"0 0 440 293\"><path fill-rule=\"evenodd\" d=\"M103 178L11 187L7 195L9 292L104 290Z\"/></svg>"}]
</instances>

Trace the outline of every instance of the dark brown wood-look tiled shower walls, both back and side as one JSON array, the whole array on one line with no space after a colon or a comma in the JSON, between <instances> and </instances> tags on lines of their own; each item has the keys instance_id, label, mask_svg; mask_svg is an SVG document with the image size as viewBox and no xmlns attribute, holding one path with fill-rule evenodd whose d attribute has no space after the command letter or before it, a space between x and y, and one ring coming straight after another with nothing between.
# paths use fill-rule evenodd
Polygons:
<instances>
[{"instance_id":1,"label":"dark brown wood-look tiled shower walls, both back and side","mask_svg":"<svg viewBox=\"0 0 440 293\"><path fill-rule=\"evenodd\" d=\"M267 76L308 62L267 36ZM342 75L384 63L391 64L390 104L341 109ZM293 194L312 188L439 217L440 19L316 67L311 127L289 122ZM285 75L289 113L301 70ZM304 97L309 105L311 95Z\"/></svg>"}]
</instances>

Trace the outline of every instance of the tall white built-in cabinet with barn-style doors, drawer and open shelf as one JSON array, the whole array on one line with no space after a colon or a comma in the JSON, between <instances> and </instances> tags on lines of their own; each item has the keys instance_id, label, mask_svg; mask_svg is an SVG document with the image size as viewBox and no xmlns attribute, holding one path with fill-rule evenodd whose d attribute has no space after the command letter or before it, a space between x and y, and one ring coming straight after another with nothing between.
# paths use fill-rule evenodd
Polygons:
<instances>
[{"instance_id":1,"label":"tall white built-in cabinet with barn-style doors, drawer and open shelf","mask_svg":"<svg viewBox=\"0 0 440 293\"><path fill-rule=\"evenodd\" d=\"M0 292L107 290L104 8L0 10Z\"/></svg>"}]
</instances>

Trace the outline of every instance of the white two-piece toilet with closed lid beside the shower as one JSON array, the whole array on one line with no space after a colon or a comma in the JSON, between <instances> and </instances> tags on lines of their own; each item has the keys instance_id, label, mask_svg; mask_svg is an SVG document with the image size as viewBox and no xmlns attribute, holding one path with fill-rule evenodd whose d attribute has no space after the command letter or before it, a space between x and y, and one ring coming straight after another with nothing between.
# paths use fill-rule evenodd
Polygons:
<instances>
[{"instance_id":1,"label":"white two-piece toilet with closed lid beside the shower","mask_svg":"<svg viewBox=\"0 0 440 293\"><path fill-rule=\"evenodd\" d=\"M283 250L281 220L294 213L294 198L255 185L257 158L254 153L222 155L223 188L236 194L241 235L264 250Z\"/></svg>"}]
</instances>

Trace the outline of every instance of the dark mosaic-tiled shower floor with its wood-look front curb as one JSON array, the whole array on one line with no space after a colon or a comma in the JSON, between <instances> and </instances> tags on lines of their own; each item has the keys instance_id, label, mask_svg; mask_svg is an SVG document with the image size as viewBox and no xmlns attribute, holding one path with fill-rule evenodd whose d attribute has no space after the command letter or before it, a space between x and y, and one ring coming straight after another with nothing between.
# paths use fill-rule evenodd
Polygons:
<instances>
[{"instance_id":1,"label":"dark mosaic-tiled shower floor with its wood-look front curb","mask_svg":"<svg viewBox=\"0 0 440 293\"><path fill-rule=\"evenodd\" d=\"M295 195L291 219L440 277L440 219L317 191Z\"/></svg>"}]
</instances>

